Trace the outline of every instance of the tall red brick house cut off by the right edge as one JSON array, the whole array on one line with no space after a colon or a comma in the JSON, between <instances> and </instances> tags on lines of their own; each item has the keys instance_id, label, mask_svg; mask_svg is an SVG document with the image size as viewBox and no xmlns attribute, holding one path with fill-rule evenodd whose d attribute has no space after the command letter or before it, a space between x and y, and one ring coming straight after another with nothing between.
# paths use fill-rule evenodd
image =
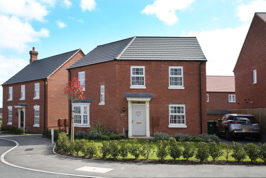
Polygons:
<instances>
[{"instance_id":1,"label":"tall red brick house cut off by the right edge","mask_svg":"<svg viewBox=\"0 0 266 178\"><path fill-rule=\"evenodd\" d=\"M266 13L255 13L234 67L237 109L266 108Z\"/></svg>"}]
</instances>

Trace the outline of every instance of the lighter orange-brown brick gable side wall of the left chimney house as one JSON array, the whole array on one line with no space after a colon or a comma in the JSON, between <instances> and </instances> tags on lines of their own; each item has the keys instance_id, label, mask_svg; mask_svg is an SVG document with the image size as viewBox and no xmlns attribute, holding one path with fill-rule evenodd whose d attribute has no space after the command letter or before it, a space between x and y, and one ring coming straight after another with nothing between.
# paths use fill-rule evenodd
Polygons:
<instances>
[{"instance_id":1,"label":"lighter orange-brown brick gable side wall of the left chimney house","mask_svg":"<svg viewBox=\"0 0 266 178\"><path fill-rule=\"evenodd\" d=\"M59 118L69 118L69 100L64 94L64 88L68 84L69 75L67 68L77 62L84 56L82 51L79 51L68 62L66 62L57 72L51 75L48 79L48 128L59 129Z\"/></svg>"}]
</instances>

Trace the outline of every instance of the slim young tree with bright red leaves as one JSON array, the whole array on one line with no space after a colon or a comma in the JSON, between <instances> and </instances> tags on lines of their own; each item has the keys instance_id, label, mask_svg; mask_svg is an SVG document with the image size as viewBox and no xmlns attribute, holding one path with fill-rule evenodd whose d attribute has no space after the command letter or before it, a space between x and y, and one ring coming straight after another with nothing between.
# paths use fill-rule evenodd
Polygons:
<instances>
[{"instance_id":1,"label":"slim young tree with bright red leaves","mask_svg":"<svg viewBox=\"0 0 266 178\"><path fill-rule=\"evenodd\" d=\"M84 99L83 96L83 87L84 85L80 85L78 78L73 78L71 81L68 82L66 88L64 89L64 94L68 96L68 99L71 102L71 107L73 107L73 103L75 100ZM74 116L73 116L74 117ZM72 119L72 123L74 119ZM74 141L74 124L71 124L71 140Z\"/></svg>"}]
</instances>

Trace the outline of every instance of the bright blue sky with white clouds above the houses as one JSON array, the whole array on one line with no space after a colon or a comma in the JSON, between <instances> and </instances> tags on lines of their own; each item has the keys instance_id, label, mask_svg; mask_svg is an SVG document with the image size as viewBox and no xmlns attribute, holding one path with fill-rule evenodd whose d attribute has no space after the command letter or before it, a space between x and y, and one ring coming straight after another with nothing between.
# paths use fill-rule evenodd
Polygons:
<instances>
[{"instance_id":1,"label":"bright blue sky with white clouds above the houses","mask_svg":"<svg viewBox=\"0 0 266 178\"><path fill-rule=\"evenodd\" d=\"M207 75L233 75L254 12L266 0L1 0L0 83L38 58L132 36L197 36ZM2 87L0 87L2 107Z\"/></svg>"}]
</instances>

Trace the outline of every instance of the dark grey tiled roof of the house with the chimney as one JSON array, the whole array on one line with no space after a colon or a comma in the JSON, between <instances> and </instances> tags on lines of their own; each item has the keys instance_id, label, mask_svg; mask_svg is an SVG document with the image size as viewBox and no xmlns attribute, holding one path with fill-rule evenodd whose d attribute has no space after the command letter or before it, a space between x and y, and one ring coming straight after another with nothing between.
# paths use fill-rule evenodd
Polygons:
<instances>
[{"instance_id":1,"label":"dark grey tiled roof of the house with the chimney","mask_svg":"<svg viewBox=\"0 0 266 178\"><path fill-rule=\"evenodd\" d=\"M3 83L2 85L47 78L79 50L80 49L77 49L74 51L69 51L63 54L33 61L29 63L26 67L24 67L21 71L16 73L13 77L9 78L8 81Z\"/></svg>"}]
</instances>

